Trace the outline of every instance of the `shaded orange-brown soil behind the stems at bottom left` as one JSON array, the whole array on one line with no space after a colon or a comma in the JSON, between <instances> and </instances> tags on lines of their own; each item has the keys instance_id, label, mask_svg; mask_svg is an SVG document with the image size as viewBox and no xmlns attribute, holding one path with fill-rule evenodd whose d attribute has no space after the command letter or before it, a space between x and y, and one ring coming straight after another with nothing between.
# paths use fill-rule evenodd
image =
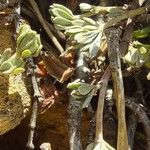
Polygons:
<instances>
[{"instance_id":1,"label":"shaded orange-brown soil behind the stems at bottom left","mask_svg":"<svg viewBox=\"0 0 150 150\"><path fill-rule=\"evenodd\" d=\"M42 143L48 142L52 150L69 150L68 139L68 99L55 101L45 113L38 115L37 128L34 138L35 150L39 150ZM29 128L30 115L22 120L21 124L8 133L0 136L0 150L25 150ZM82 137L84 148L87 142L89 116L84 113L82 123Z\"/></svg>"}]
</instances>

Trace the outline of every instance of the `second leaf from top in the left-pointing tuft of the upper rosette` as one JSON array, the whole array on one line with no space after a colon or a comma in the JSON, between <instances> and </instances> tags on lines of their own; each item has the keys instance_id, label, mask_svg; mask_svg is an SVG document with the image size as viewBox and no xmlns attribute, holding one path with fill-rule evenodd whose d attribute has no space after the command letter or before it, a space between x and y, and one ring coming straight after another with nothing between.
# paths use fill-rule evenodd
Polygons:
<instances>
[{"instance_id":1,"label":"second leaf from top in the left-pointing tuft of the upper rosette","mask_svg":"<svg viewBox=\"0 0 150 150\"><path fill-rule=\"evenodd\" d=\"M64 11L63 9L60 9L60 8L53 8L51 10L52 14L55 16L55 17L63 17L65 19L68 19L68 20L73 20L73 16L70 15L69 13L67 13L66 11Z\"/></svg>"}]
</instances>

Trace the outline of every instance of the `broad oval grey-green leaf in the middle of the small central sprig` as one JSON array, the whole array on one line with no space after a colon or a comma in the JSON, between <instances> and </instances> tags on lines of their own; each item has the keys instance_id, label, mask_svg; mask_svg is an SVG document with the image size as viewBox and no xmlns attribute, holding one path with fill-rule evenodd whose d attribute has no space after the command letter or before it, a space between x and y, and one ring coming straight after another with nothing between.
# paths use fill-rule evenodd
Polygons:
<instances>
[{"instance_id":1,"label":"broad oval grey-green leaf in the middle of the small central sprig","mask_svg":"<svg viewBox=\"0 0 150 150\"><path fill-rule=\"evenodd\" d=\"M78 91L81 95L87 95L92 89L93 89L92 85L82 83L81 86L78 88Z\"/></svg>"}]
</instances>

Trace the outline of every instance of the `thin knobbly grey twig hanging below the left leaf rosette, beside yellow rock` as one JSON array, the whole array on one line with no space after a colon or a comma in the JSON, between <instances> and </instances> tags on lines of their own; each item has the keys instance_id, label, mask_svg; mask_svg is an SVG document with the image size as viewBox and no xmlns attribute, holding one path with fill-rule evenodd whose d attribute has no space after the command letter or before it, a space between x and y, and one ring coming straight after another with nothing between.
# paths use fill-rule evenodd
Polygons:
<instances>
[{"instance_id":1,"label":"thin knobbly grey twig hanging below the left leaf rosette, beside yellow rock","mask_svg":"<svg viewBox=\"0 0 150 150\"><path fill-rule=\"evenodd\" d=\"M33 95L34 102L32 106L32 114L31 114L30 124L29 124L30 132L29 132L28 142L27 142L26 147L32 150L34 149L33 138L34 138L34 132L36 128L36 121L37 121L38 102L43 101L43 97L39 91L37 80L34 75L35 65L33 63L33 59L29 58L28 61L29 61L28 73L31 75L32 86L33 86L33 91L34 91L34 95Z\"/></svg>"}]
</instances>

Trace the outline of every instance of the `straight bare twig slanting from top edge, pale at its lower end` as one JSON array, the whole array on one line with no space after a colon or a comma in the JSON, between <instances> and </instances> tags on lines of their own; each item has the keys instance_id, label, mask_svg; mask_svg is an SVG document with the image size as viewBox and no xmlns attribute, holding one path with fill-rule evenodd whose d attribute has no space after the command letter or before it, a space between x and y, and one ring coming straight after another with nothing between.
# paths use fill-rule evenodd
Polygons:
<instances>
[{"instance_id":1,"label":"straight bare twig slanting from top edge, pale at its lower end","mask_svg":"<svg viewBox=\"0 0 150 150\"><path fill-rule=\"evenodd\" d=\"M63 47L60 45L60 43L58 42L58 40L56 39L56 37L53 35L53 33L50 31L49 27L45 23L45 20L42 17L42 15L40 13L40 10L38 8L38 5L36 4L36 2L34 0L29 0L29 2L31 4L32 8L34 9L34 12L35 12L37 18L39 19L40 23L42 24L43 28L45 29L47 35L52 40L52 42L54 43L54 45L56 46L56 48L60 51L60 53L63 53L64 52Z\"/></svg>"}]
</instances>

